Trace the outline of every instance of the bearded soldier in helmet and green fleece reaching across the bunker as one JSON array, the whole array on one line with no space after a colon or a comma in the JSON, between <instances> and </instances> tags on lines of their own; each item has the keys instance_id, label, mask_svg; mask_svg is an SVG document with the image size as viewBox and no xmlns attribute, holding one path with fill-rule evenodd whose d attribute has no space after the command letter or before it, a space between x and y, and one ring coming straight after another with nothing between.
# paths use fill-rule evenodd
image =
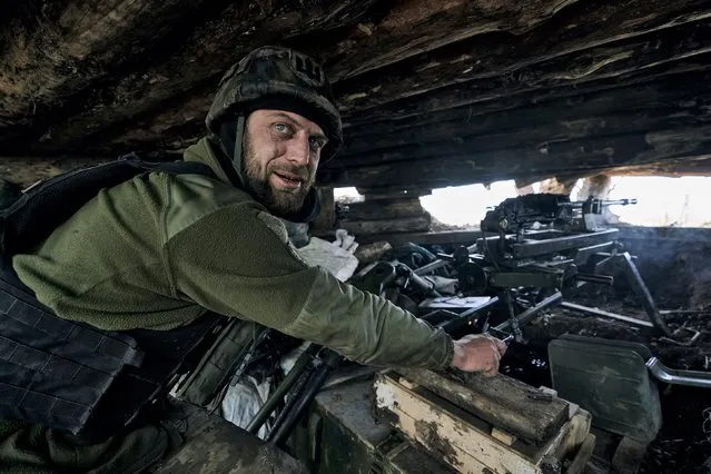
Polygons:
<instances>
[{"instance_id":1,"label":"bearded soldier in helmet and green fleece reaching across the bunker","mask_svg":"<svg viewBox=\"0 0 711 474\"><path fill-rule=\"evenodd\" d=\"M12 255L12 269L47 312L130 335L146 352L144 369L154 371L134 381L160 386L174 374L160 361L184 357L171 349L187 352L177 347L198 332L210 333L206 313L255 322L363 364L497 372L505 350L498 339L453 342L387 300L307 266L289 244L277 217L316 217L316 169L342 142L340 118L316 61L283 48L253 51L221 80L206 124L208 136L184 160L209 172L137 174L100 190L39 245ZM12 254L7 241L4 253ZM124 404L138 389L121 381L107 392L112 402L103 402L113 409L92 412L93 426L111 426L110 412L129 409ZM52 404L59 401L55 392ZM33 409L51 413L28 406L26 422L42 419L27 415ZM237 427L215 428L195 408L184 406L162 419L138 406L130 412L126 426L90 441L42 424L2 422L0 470L142 472L189 444L196 431L209 431L205 426L214 429L201 446L213 450L213 461L224 456L234 472L296 470L274 446ZM166 422L176 413L187 428Z\"/></svg>"}]
</instances>

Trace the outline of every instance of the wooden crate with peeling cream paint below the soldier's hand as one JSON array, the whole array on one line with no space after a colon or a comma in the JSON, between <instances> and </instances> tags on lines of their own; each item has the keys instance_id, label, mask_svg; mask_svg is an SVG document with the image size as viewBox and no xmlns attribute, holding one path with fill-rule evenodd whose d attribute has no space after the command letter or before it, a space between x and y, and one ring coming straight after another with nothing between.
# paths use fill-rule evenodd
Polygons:
<instances>
[{"instance_id":1,"label":"wooden crate with peeling cream paint below the soldier's hand","mask_svg":"<svg viewBox=\"0 0 711 474\"><path fill-rule=\"evenodd\" d=\"M545 411L546 404L540 406ZM566 419L547 440L527 443L393 372L376 377L375 408L381 419L460 473L544 474L580 451L573 474L582 472L594 446L591 416L577 406L567 407ZM522 419L531 416L535 413L526 406Z\"/></svg>"}]
</instances>

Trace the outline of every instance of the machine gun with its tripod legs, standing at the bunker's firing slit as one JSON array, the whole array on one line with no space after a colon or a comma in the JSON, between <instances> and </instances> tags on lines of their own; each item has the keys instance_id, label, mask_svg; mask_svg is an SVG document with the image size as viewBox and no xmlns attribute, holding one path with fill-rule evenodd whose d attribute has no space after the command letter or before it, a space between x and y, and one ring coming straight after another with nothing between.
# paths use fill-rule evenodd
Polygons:
<instances>
[{"instance_id":1,"label":"machine gun with its tripod legs, standing at the bunker's firing slit","mask_svg":"<svg viewBox=\"0 0 711 474\"><path fill-rule=\"evenodd\" d=\"M453 256L460 292L496 294L508 308L510 322L504 326L512 328L516 339L521 339L519 325L525 323L524 319L559 304L565 288L586 283L612 285L613 277L604 271L615 266L623 270L642 300L653 327L671 336L633 257L620 251L619 230L603 227L596 219L608 206L631 204L636 204L636 199L571 201L567 196L554 194L504 200L486 213L481 223L482 238L471 247L460 248ZM522 288L549 296L543 300L540 296L515 316L512 302Z\"/></svg>"}]
</instances>

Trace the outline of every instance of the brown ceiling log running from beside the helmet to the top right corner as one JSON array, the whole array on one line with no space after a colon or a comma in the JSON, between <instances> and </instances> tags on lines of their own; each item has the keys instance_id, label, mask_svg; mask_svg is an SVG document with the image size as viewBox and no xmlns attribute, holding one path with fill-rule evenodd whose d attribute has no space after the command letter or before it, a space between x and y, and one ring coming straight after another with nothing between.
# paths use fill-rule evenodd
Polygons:
<instances>
[{"instance_id":1,"label":"brown ceiling log running from beside the helmet to the top right corner","mask_svg":"<svg viewBox=\"0 0 711 474\"><path fill-rule=\"evenodd\" d=\"M620 27L622 19L630 21L629 28ZM697 49L709 36L708 20L708 12L685 3L634 0L595 9L580 4L530 34L511 40L481 34L442 52L401 58L377 73L339 82L336 92L344 112L350 113L455 85L478 89L477 80L496 88L503 80L506 88L516 82L577 81L666 59L684 45Z\"/></svg>"}]
</instances>

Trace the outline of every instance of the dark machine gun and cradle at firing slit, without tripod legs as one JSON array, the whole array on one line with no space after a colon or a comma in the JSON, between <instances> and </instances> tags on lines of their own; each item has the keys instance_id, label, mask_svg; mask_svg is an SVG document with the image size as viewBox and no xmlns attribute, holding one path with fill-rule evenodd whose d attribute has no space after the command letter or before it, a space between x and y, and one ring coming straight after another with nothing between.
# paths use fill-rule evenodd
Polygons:
<instances>
[{"instance_id":1,"label":"dark machine gun and cradle at firing slit, without tripod legs","mask_svg":"<svg viewBox=\"0 0 711 474\"><path fill-rule=\"evenodd\" d=\"M591 257L614 254L619 230L599 223L592 227L591 217L600 216L608 206L630 204L636 204L636 199L571 201L564 195L543 194L504 200L481 223L482 233L497 236L483 236L457 254L461 263L471 261L477 267L458 269L462 289L562 288L571 279L612 283L598 275ZM468 278L463 280L462 273Z\"/></svg>"}]
</instances>

